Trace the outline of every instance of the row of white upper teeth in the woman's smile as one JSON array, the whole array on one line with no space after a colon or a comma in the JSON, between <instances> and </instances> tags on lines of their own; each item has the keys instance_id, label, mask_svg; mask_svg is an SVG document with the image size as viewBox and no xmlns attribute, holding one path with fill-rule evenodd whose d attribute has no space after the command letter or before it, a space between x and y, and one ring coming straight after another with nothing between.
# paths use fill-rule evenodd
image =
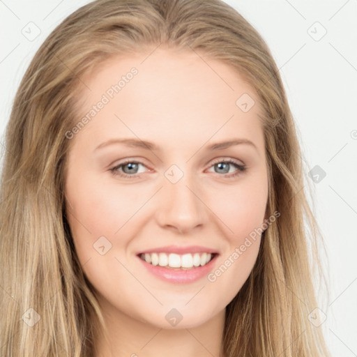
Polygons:
<instances>
[{"instance_id":1,"label":"row of white upper teeth in the woman's smile","mask_svg":"<svg viewBox=\"0 0 357 357\"><path fill-rule=\"evenodd\" d=\"M212 259L211 253L195 253L178 255L175 253L145 253L140 257L153 266L165 266L167 268L194 268L204 266Z\"/></svg>"}]
</instances>

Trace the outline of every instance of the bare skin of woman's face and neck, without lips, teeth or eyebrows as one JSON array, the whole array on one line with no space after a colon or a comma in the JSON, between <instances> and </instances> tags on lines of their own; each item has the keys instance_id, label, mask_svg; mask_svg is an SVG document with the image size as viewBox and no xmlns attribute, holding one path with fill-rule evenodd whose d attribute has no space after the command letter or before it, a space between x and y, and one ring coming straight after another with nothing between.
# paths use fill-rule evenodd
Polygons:
<instances>
[{"instance_id":1,"label":"bare skin of woman's face and neck, without lips, teeth or eyebrows","mask_svg":"<svg viewBox=\"0 0 357 357\"><path fill-rule=\"evenodd\" d=\"M207 276L188 284L162 281L136 255L164 245L203 245L219 252L214 271L261 227L268 200L261 107L254 89L225 63L202 61L191 50L149 53L112 58L82 79L91 89L81 98L85 115L130 68L138 70L70 139L68 222L109 331L107 341L98 335L96 357L222 356L225 307L248 279L261 236L215 282ZM255 100L248 112L236 105L243 93ZM95 150L126 137L161 149L112 144ZM232 138L255 147L206 150ZM132 170L136 178L114 176L109 169L127 158L142 163ZM229 165L227 174L214 165L228 159L246 171ZM183 173L177 183L165 176L172 165ZM117 171L130 175L128 166ZM105 255L93 248L100 236L112 244ZM165 319L172 308L183 316L176 326Z\"/></svg>"}]
</instances>

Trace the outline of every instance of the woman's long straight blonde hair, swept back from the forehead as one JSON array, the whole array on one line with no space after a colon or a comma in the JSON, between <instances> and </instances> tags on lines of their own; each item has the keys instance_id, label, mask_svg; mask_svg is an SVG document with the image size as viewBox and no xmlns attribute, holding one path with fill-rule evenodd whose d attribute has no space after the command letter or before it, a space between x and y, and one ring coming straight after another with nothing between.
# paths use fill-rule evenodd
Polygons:
<instances>
[{"instance_id":1,"label":"woman's long straight blonde hair, swept back from the forehead","mask_svg":"<svg viewBox=\"0 0 357 357\"><path fill-rule=\"evenodd\" d=\"M81 77L112 56L159 45L229 64L264 109L267 214L280 217L264 231L250 277L227 305L225 356L329 356L321 327L309 320L318 307L314 268L324 278L321 234L280 73L259 33L220 0L93 1L63 20L33 57L6 128L1 356L93 356L94 336L105 326L66 218L65 133L78 121L81 92L89 90Z\"/></svg>"}]
</instances>

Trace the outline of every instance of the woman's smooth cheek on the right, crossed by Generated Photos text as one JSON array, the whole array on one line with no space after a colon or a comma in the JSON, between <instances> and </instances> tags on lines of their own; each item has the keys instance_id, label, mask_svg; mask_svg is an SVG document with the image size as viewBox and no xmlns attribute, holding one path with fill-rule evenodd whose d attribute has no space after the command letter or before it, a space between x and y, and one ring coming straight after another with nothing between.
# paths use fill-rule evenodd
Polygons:
<instances>
[{"instance_id":1,"label":"woman's smooth cheek on the right, crossed by Generated Photos text","mask_svg":"<svg viewBox=\"0 0 357 357\"><path fill-rule=\"evenodd\" d=\"M264 174L250 176L227 190L227 199L216 200L215 212L224 221L229 249L220 257L216 270L208 275L208 281L212 294L225 291L227 301L241 289L257 260L268 199Z\"/></svg>"}]
</instances>

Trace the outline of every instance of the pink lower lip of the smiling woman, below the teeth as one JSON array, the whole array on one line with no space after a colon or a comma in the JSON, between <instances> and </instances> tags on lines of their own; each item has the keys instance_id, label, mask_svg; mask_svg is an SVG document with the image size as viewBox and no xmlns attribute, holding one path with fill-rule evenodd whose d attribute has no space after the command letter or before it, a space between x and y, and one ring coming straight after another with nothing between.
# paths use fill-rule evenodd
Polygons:
<instances>
[{"instance_id":1,"label":"pink lower lip of the smiling woman, below the teeth","mask_svg":"<svg viewBox=\"0 0 357 357\"><path fill-rule=\"evenodd\" d=\"M169 268L164 268L162 266L153 266L149 263L146 263L143 259L137 256L142 264L144 264L145 268L157 276L158 278L165 280L166 282L174 282L176 284L187 284L189 282L195 282L205 275L208 275L210 271L213 269L213 264L215 264L215 260L218 255L215 255L208 264L204 266L197 266L197 268L186 269L186 270L174 270Z\"/></svg>"}]
</instances>

